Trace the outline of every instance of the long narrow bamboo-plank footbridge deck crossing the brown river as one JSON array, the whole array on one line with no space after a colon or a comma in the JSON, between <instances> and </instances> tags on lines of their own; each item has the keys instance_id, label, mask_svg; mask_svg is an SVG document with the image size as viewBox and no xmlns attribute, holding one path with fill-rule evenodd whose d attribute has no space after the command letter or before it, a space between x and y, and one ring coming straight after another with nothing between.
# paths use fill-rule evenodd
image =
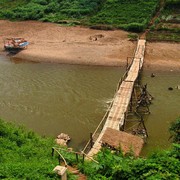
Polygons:
<instances>
[{"instance_id":1,"label":"long narrow bamboo-plank footbridge deck crossing the brown river","mask_svg":"<svg viewBox=\"0 0 180 180\"><path fill-rule=\"evenodd\" d=\"M139 39L137 43L137 48L132 58L132 62L129 65L128 71L126 72L123 80L119 84L118 90L114 96L114 100L108 109L106 115L104 116L105 123L100 132L97 140L94 142L90 151L88 152L88 157L92 157L97 154L101 149L102 137L105 134L107 128L112 128L115 130L121 130L125 123L126 113L128 111L128 106L131 100L133 88L136 79L138 78L139 72L143 66L144 52L145 52L145 43L146 40ZM96 134L96 131L93 133L92 137ZM86 151L90 141L85 146L84 151Z\"/></svg>"}]
</instances>

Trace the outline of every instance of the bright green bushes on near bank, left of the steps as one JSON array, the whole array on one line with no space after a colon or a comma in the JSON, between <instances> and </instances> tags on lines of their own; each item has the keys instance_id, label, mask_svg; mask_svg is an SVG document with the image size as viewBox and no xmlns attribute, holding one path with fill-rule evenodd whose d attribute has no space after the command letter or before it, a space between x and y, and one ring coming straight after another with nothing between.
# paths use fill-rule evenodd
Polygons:
<instances>
[{"instance_id":1,"label":"bright green bushes on near bank, left of the steps","mask_svg":"<svg viewBox=\"0 0 180 180\"><path fill-rule=\"evenodd\" d=\"M0 120L0 179L56 179L52 139Z\"/></svg>"}]
</instances>

